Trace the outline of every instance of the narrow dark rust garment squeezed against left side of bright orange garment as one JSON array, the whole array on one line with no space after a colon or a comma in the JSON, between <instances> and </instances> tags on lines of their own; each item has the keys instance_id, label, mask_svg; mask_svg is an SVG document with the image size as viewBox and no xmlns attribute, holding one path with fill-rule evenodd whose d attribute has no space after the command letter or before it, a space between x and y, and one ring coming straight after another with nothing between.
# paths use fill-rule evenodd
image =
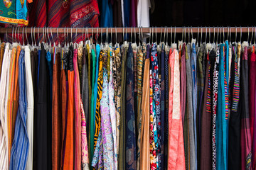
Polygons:
<instances>
[{"instance_id":1,"label":"narrow dark rust garment squeezed against left side of bright orange garment","mask_svg":"<svg viewBox=\"0 0 256 170\"><path fill-rule=\"evenodd\" d=\"M60 102L61 102L61 120L62 122L61 123L61 130L60 133L61 133L61 143L60 143L60 169L63 169L63 148L64 148L64 140L65 140L65 126L66 126L66 110L67 110L67 105L68 105L68 101L67 101L67 83L66 83L66 76L65 76L65 69L61 69L61 72L60 72Z\"/></svg>"}]
</instances>

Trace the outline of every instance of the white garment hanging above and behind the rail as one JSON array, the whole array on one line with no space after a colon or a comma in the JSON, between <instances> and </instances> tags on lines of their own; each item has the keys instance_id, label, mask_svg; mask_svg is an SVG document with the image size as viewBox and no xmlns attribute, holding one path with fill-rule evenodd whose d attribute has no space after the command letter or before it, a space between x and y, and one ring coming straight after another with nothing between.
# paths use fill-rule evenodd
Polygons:
<instances>
[{"instance_id":1,"label":"white garment hanging above and behind the rail","mask_svg":"<svg viewBox=\"0 0 256 170\"><path fill-rule=\"evenodd\" d=\"M139 0L137 6L138 27L149 27L149 8L150 0Z\"/></svg>"}]
</instances>

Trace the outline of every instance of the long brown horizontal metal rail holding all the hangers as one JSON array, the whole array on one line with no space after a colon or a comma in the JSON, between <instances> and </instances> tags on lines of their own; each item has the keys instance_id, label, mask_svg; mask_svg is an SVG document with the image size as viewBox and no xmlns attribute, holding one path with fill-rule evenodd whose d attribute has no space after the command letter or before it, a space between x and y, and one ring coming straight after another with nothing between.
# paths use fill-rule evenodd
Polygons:
<instances>
[{"instance_id":1,"label":"long brown horizontal metal rail holding all the hangers","mask_svg":"<svg viewBox=\"0 0 256 170\"><path fill-rule=\"evenodd\" d=\"M172 28L174 28L174 27L172 27ZM176 33L182 33L182 30L184 28L188 29L188 27L176 27ZM242 33L248 33L248 30L250 32L253 31L253 27L230 27L230 28L228 28L228 27L189 27L189 29L192 31L192 33L196 33L198 31L198 28L201 28L202 33L206 33L206 30L208 30L209 28L211 30L213 30L214 28L216 30L218 28L222 28L224 30L224 33L228 33L228 29L230 29L231 33L235 33L235 28L237 28L237 29L241 28ZM1 34L12 33L12 29L13 28L0 28L0 33ZM22 28L18 28L18 29L22 29ZM25 28L25 29L27 29L27 33L31 33L31 29L33 29L33 28ZM52 28L52 33L65 33L64 29L65 28ZM71 28L68 28L68 29L70 30ZM74 29L76 31L76 28L72 28L72 29ZM84 32L83 30L85 30L85 29L86 28L78 28L78 33L83 33ZM139 33L140 28L133 28L133 29L135 29L135 31L137 33ZM161 33L162 31L164 31L163 29L164 28L154 28L154 32ZM92 32L96 33L97 28L88 28L87 31L88 31L88 33L92 33ZM110 33L110 31L111 31L111 28L102 28L102 33L107 33L107 32ZM127 33L131 33L132 28L124 28L124 29L123 28L112 28L112 31L114 33L123 33L124 31L125 32L127 31ZM32 32L33 32L33 30L32 30ZM149 28L142 28L142 32L150 33ZM38 33L43 33L43 28L38 28ZM166 29L166 33L171 33L171 27ZM238 33L240 33L240 29L238 29Z\"/></svg>"}]
</instances>

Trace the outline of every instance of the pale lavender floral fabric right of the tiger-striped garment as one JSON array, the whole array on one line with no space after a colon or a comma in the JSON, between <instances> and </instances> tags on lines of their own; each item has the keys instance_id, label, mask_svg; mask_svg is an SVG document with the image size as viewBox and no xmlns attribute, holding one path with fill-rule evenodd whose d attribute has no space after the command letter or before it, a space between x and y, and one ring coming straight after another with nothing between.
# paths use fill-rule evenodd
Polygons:
<instances>
[{"instance_id":1,"label":"pale lavender floral fabric right of the tiger-striped garment","mask_svg":"<svg viewBox=\"0 0 256 170\"><path fill-rule=\"evenodd\" d=\"M110 115L110 98L107 81L107 70L103 68L103 86L102 98L100 100L100 116L102 129L102 145L103 145L103 164L104 169L114 168L114 137L112 131L112 121Z\"/></svg>"}]
</instances>

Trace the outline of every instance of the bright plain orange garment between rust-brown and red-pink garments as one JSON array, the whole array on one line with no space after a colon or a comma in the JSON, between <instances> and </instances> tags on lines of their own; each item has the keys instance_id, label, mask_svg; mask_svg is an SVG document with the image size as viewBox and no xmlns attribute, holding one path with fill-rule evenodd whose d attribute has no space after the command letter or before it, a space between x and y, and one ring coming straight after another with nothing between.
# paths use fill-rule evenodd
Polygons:
<instances>
[{"instance_id":1,"label":"bright plain orange garment between rust-brown and red-pink garments","mask_svg":"<svg viewBox=\"0 0 256 170\"><path fill-rule=\"evenodd\" d=\"M68 116L63 169L74 169L74 71L68 70Z\"/></svg>"}]
</instances>

